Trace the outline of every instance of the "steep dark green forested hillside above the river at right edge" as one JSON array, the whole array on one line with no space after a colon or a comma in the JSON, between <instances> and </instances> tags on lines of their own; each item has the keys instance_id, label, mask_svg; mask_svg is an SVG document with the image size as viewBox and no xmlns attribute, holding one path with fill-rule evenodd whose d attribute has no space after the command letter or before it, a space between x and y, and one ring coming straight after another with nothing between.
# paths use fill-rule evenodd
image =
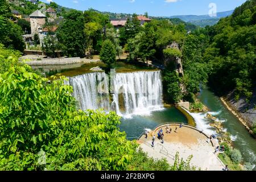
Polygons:
<instances>
[{"instance_id":1,"label":"steep dark green forested hillside above the river at right edge","mask_svg":"<svg viewBox=\"0 0 256 182\"><path fill-rule=\"evenodd\" d=\"M256 0L243 3L232 16L209 28L205 59L212 65L210 85L219 94L236 90L236 98L253 95L256 87Z\"/></svg>"}]
</instances>

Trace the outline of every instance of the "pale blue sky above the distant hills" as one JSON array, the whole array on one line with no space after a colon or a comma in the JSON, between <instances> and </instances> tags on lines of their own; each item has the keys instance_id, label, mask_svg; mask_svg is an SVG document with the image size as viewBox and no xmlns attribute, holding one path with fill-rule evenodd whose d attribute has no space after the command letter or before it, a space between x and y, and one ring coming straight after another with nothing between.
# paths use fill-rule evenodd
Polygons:
<instances>
[{"instance_id":1,"label":"pale blue sky above the distant hills","mask_svg":"<svg viewBox=\"0 0 256 182\"><path fill-rule=\"evenodd\" d=\"M49 2L52 0L43 0ZM93 8L113 13L147 12L150 16L205 15L210 3L215 3L217 12L233 10L246 0L53 0L57 4L77 10Z\"/></svg>"}]
</instances>

